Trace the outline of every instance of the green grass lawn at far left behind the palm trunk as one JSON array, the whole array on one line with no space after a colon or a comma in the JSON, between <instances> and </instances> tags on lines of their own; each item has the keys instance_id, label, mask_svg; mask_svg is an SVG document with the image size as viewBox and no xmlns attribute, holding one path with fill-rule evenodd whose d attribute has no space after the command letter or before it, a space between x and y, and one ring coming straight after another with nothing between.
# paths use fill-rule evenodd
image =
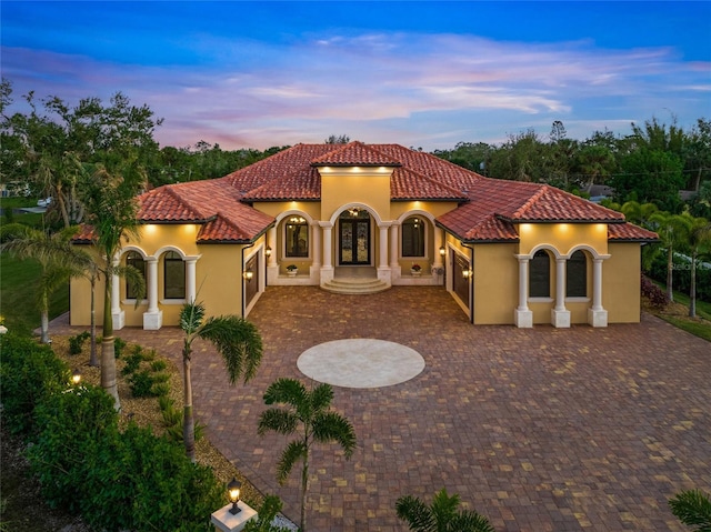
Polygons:
<instances>
[{"instance_id":1,"label":"green grass lawn at far left behind the palm trunk","mask_svg":"<svg viewBox=\"0 0 711 532\"><path fill-rule=\"evenodd\" d=\"M40 265L37 261L21 261L8 253L0 253L0 315L4 325L18 334L31 334L40 327L36 290L39 275ZM50 298L49 319L68 310L69 283Z\"/></svg>"}]
</instances>

